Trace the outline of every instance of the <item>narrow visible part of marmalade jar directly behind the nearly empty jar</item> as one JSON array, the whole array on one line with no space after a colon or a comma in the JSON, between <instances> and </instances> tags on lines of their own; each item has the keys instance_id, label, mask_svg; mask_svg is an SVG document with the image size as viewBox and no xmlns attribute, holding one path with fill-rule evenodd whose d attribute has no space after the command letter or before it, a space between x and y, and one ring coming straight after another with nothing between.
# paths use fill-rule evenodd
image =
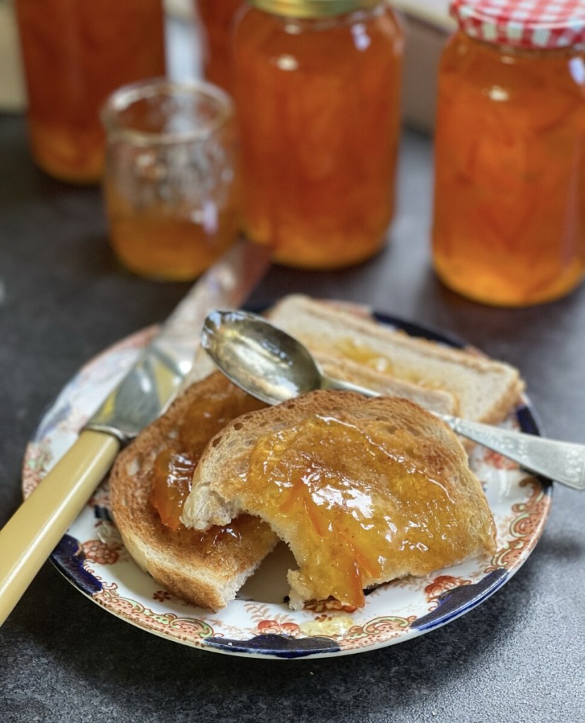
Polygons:
<instances>
[{"instance_id":1,"label":"narrow visible part of marmalade jar directly behind the nearly empty jar","mask_svg":"<svg viewBox=\"0 0 585 723\"><path fill-rule=\"evenodd\" d=\"M236 12L244 0L195 0L201 21L205 78L228 93L234 91L231 35Z\"/></svg>"}]
</instances>

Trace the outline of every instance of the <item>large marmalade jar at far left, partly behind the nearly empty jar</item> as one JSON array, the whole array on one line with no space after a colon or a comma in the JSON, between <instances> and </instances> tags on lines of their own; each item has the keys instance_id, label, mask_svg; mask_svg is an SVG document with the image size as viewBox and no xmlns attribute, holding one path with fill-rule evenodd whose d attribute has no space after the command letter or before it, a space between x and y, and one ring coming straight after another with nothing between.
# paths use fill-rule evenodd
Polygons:
<instances>
[{"instance_id":1,"label":"large marmalade jar at far left, partly behind the nearly empty jar","mask_svg":"<svg viewBox=\"0 0 585 723\"><path fill-rule=\"evenodd\" d=\"M97 183L103 101L165 73L162 0L17 0L16 13L33 157L57 179Z\"/></svg>"}]
</instances>

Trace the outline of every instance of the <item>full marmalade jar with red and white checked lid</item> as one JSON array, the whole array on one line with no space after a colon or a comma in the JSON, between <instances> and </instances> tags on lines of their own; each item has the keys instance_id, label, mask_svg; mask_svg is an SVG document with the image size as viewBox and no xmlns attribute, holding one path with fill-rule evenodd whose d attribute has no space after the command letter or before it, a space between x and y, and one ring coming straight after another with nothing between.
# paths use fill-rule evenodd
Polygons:
<instances>
[{"instance_id":1,"label":"full marmalade jar with red and white checked lid","mask_svg":"<svg viewBox=\"0 0 585 723\"><path fill-rule=\"evenodd\" d=\"M556 299L585 270L585 3L455 0L451 10L435 270L487 304Z\"/></svg>"}]
</instances>

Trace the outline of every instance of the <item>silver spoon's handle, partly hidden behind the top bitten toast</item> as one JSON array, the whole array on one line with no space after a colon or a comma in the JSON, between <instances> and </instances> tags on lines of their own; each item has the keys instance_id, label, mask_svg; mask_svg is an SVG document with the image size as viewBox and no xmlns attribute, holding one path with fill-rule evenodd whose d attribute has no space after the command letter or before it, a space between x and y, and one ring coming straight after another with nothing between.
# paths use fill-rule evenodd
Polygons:
<instances>
[{"instance_id":1,"label":"silver spoon's handle, partly hidden behind the top bitten toast","mask_svg":"<svg viewBox=\"0 0 585 723\"><path fill-rule=\"evenodd\" d=\"M370 389L327 376L323 376L323 388L358 392L368 397L378 396ZM545 437L471 422L469 419L460 419L449 414L437 416L443 419L453 432L500 453L527 471L554 479L573 489L585 490L585 445L547 440Z\"/></svg>"}]
</instances>

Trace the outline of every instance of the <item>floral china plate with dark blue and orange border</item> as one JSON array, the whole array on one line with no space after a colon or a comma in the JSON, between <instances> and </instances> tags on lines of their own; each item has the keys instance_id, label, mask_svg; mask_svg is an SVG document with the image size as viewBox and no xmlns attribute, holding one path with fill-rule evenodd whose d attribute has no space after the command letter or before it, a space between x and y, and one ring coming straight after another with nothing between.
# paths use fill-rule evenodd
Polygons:
<instances>
[{"instance_id":1,"label":"floral china plate with dark blue and orange border","mask_svg":"<svg viewBox=\"0 0 585 723\"><path fill-rule=\"evenodd\" d=\"M394 317L381 323L448 346L452 338ZM116 385L155 328L108 348L86 364L56 399L27 446L23 492L28 495L77 438L77 432ZM538 434L523 401L504 422ZM482 603L521 567L537 543L552 485L515 463L476 448L471 466L482 482L498 530L492 559L468 560L424 578L404 578L370 592L363 609L289 609L286 547L271 553L238 598L220 612L171 595L132 561L111 518L105 480L61 539L51 560L93 602L128 623L202 650L268 658L351 654L400 643L445 625Z\"/></svg>"}]
</instances>

